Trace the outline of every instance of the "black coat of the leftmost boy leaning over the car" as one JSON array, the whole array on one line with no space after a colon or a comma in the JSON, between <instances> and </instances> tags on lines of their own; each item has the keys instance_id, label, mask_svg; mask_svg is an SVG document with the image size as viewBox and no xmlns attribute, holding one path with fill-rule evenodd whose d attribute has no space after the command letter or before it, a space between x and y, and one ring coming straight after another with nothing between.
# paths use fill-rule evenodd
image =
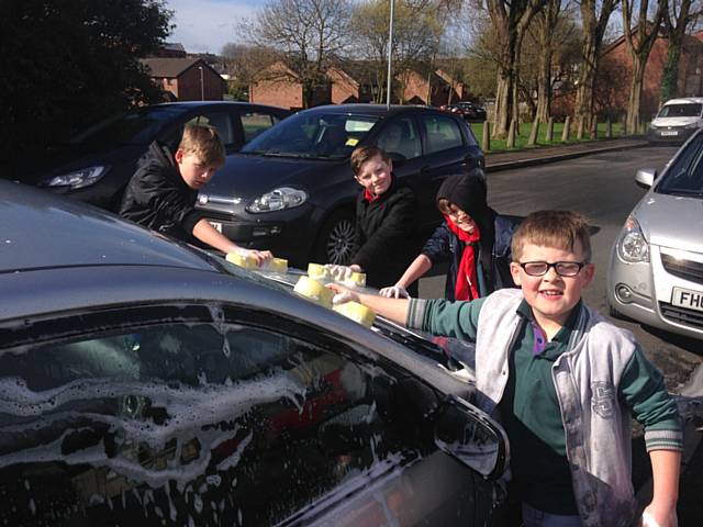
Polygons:
<instances>
[{"instance_id":1,"label":"black coat of the leftmost boy leaning over the car","mask_svg":"<svg viewBox=\"0 0 703 527\"><path fill-rule=\"evenodd\" d=\"M198 191L186 184L168 148L154 142L127 184L120 215L192 243L193 227L202 217L196 211L197 199Z\"/></svg>"}]
</instances>

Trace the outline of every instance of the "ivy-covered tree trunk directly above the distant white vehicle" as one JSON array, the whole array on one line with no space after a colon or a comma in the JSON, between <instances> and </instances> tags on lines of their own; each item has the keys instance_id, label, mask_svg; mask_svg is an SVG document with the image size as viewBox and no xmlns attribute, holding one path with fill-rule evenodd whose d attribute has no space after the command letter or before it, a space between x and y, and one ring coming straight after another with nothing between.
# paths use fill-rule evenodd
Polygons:
<instances>
[{"instance_id":1,"label":"ivy-covered tree trunk directly above the distant white vehicle","mask_svg":"<svg viewBox=\"0 0 703 527\"><path fill-rule=\"evenodd\" d=\"M667 102L679 96L679 60L687 27L701 14L699 9L691 12L692 0L669 0L669 9L663 13L663 33L667 35L667 61L659 101Z\"/></svg>"}]
</instances>

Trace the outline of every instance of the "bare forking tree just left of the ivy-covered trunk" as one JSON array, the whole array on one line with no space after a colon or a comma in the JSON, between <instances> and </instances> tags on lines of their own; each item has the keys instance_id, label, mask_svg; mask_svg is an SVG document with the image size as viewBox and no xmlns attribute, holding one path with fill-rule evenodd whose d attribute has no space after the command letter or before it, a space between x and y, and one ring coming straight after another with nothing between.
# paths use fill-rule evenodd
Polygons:
<instances>
[{"instance_id":1,"label":"bare forking tree just left of the ivy-covered trunk","mask_svg":"<svg viewBox=\"0 0 703 527\"><path fill-rule=\"evenodd\" d=\"M657 11L654 21L647 21L647 11L649 9L649 0L639 0L639 12L637 15L637 25L633 29L632 16L634 0L622 0L623 9L623 30L625 33L625 42L627 51L633 60L633 76L629 85L629 99L627 101L627 117L625 125L627 130L637 132L639 127L639 109L641 105L641 87L645 78L645 68L649 52L659 35L659 27L663 13L667 10L667 0L658 0Z\"/></svg>"}]
</instances>

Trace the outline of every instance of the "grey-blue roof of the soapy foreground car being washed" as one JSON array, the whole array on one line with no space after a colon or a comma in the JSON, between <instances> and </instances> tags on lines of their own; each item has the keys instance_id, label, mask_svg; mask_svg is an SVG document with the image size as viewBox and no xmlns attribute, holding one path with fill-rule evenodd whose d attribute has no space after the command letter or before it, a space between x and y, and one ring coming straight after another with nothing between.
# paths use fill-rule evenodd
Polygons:
<instances>
[{"instance_id":1,"label":"grey-blue roof of the soapy foreground car being washed","mask_svg":"<svg viewBox=\"0 0 703 527\"><path fill-rule=\"evenodd\" d=\"M96 265L214 269L197 253L136 224L8 180L0 180L0 274Z\"/></svg>"}]
</instances>

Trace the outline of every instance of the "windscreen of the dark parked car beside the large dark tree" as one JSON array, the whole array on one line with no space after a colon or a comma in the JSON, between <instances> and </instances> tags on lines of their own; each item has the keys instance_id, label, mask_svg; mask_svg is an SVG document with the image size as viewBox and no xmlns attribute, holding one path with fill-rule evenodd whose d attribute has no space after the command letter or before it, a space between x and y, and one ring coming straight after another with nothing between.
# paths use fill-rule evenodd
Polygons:
<instances>
[{"instance_id":1,"label":"windscreen of the dark parked car beside the large dark tree","mask_svg":"<svg viewBox=\"0 0 703 527\"><path fill-rule=\"evenodd\" d=\"M110 145L146 145L164 123L186 112L185 108L141 108L113 115L70 139L72 145L94 147Z\"/></svg>"}]
</instances>

